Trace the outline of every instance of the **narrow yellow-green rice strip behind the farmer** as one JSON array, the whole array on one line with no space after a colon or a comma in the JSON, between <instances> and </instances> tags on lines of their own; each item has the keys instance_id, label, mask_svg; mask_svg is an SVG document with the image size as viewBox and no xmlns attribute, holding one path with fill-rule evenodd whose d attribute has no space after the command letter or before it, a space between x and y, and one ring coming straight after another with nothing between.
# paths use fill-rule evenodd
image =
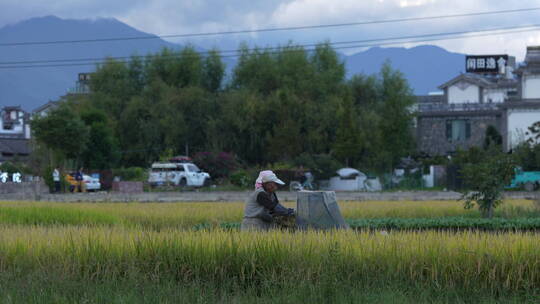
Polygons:
<instances>
[{"instance_id":1,"label":"narrow yellow-green rice strip behind the farmer","mask_svg":"<svg viewBox=\"0 0 540 304\"><path fill-rule=\"evenodd\" d=\"M294 203L285 203L295 207ZM346 219L377 218L479 218L476 209L465 210L459 201L341 202ZM121 225L140 228L192 228L199 224L240 222L244 203L50 203L0 202L0 224ZM497 208L503 218L537 217L534 202L513 200Z\"/></svg>"}]
</instances>

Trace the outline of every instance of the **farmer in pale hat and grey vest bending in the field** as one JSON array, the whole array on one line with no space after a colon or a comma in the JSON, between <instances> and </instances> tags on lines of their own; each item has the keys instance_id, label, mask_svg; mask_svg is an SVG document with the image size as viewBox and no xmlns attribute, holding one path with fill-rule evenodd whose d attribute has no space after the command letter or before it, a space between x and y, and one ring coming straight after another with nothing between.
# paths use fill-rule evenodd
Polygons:
<instances>
[{"instance_id":1,"label":"farmer in pale hat and grey vest bending in the field","mask_svg":"<svg viewBox=\"0 0 540 304\"><path fill-rule=\"evenodd\" d=\"M274 172L261 171L255 191L246 200L242 230L266 231L277 228L278 219L291 219L294 210L285 208L276 196L278 185L285 185Z\"/></svg>"}]
</instances>

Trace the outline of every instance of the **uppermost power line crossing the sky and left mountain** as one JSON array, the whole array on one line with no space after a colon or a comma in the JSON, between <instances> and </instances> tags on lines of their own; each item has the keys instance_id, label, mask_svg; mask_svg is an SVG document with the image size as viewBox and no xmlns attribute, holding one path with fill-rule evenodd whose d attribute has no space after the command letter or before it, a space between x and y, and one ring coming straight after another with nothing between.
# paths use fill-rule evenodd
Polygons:
<instances>
[{"instance_id":1,"label":"uppermost power line crossing the sky and left mountain","mask_svg":"<svg viewBox=\"0 0 540 304\"><path fill-rule=\"evenodd\" d=\"M125 40L141 40L141 39L158 39L158 38L187 38L187 37L217 36L217 35L230 35L230 34L249 34L249 33L261 33L261 32L278 32L278 31L290 31L290 30L320 29L320 28L346 27L346 26L358 26L358 25L369 25L369 24L384 24L384 23L411 22L411 21L447 19L447 18L458 18L458 17L472 17L472 16L483 16L483 15L510 14L510 13L520 13L520 12L531 12L531 11L537 11L537 10L540 10L540 7L522 8L522 9L513 9L513 10L473 12L473 13L452 14L452 15L412 17L412 18L399 18L399 19L386 19L386 20L372 20L372 21L336 23L336 24L318 24L318 25L305 25L305 26L292 26L292 27L275 27L275 28L264 28L264 29L256 29L256 30L238 30L238 31L187 33L187 34L175 34L175 35L152 35L152 36L139 36L139 37L116 37L116 38L79 39L79 40L8 42L8 43L0 43L0 46L48 45L48 44L66 44L66 43L91 43L91 42L125 41Z\"/></svg>"}]
</instances>

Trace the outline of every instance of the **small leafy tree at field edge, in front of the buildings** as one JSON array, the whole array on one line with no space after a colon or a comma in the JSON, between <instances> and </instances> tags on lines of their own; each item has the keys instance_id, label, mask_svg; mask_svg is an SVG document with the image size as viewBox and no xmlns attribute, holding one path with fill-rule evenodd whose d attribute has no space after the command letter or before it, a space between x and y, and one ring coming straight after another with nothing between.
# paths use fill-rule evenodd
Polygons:
<instances>
[{"instance_id":1,"label":"small leafy tree at field edge, in front of the buildings","mask_svg":"<svg viewBox=\"0 0 540 304\"><path fill-rule=\"evenodd\" d=\"M461 169L467 187L461 199L465 201L465 208L477 205L483 217L492 218L494 209L503 202L504 187L514 176L515 161L497 146L477 150L477 154L472 158L475 161L464 164Z\"/></svg>"}]
</instances>

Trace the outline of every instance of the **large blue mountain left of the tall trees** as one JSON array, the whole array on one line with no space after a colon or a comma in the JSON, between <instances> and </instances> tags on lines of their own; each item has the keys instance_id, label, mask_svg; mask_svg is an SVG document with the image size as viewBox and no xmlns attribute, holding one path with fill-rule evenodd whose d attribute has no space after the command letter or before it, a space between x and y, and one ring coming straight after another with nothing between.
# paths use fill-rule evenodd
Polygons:
<instances>
[{"instance_id":1,"label":"large blue mountain left of the tall trees","mask_svg":"<svg viewBox=\"0 0 540 304\"><path fill-rule=\"evenodd\" d=\"M29 19L0 29L0 43L58 41L117 37L151 37L116 19L67 20L55 16ZM2 62L103 58L105 56L146 55L163 47L179 45L161 39L70 43L50 45L0 46ZM54 64L65 64L62 62ZM0 65L1 66L1 65ZM0 69L0 105L21 105L33 110L58 99L74 87L77 74L94 66Z\"/></svg>"}]
</instances>

